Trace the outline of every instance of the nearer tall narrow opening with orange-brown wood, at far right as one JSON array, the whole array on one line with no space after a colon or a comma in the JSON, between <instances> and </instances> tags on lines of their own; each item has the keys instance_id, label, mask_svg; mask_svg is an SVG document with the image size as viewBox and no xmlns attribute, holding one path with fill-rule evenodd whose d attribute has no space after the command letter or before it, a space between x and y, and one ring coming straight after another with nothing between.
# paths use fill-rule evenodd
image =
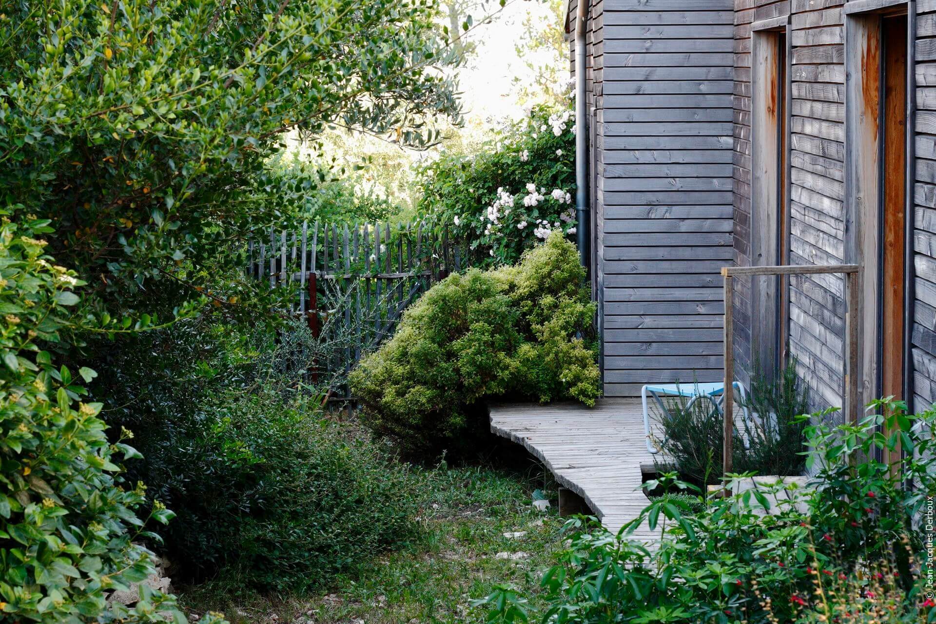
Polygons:
<instances>
[{"instance_id":1,"label":"nearer tall narrow opening with orange-brown wood, at far right","mask_svg":"<svg viewBox=\"0 0 936 624\"><path fill-rule=\"evenodd\" d=\"M905 399L908 375L907 15L897 13L856 13L845 26L845 260L864 268L860 402Z\"/></svg>"}]
</instances>

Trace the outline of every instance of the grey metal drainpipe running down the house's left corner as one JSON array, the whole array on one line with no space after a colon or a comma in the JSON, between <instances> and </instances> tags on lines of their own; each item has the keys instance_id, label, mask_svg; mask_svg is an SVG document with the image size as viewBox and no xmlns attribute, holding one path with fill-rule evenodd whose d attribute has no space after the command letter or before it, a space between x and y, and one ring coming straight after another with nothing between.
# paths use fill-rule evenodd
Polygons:
<instances>
[{"instance_id":1,"label":"grey metal drainpipe running down the house's left corner","mask_svg":"<svg viewBox=\"0 0 936 624\"><path fill-rule=\"evenodd\" d=\"M588 234L588 127L586 120L588 97L585 92L587 68L585 67L588 44L585 41L588 27L589 0L578 0L576 19L576 240L578 258L586 271L589 270Z\"/></svg>"}]
</instances>

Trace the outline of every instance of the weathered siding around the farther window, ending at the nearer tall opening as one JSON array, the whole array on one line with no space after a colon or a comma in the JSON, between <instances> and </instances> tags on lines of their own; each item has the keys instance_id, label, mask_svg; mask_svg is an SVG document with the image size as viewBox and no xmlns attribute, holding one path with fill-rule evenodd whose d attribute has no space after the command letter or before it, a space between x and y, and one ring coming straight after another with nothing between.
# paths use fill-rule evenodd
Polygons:
<instances>
[{"instance_id":1,"label":"weathered siding around the farther window, ending at the nearer tall opening","mask_svg":"<svg viewBox=\"0 0 936 624\"><path fill-rule=\"evenodd\" d=\"M739 266L752 264L751 24L782 15L789 15L791 26L789 262L837 264L843 259L841 4L837 0L736 0L734 259ZM811 386L817 407L841 405L841 293L839 276L793 276L790 280L790 354L797 357L800 374ZM746 371L754 365L751 294L751 280L739 280L734 301L738 319L734 349L736 366Z\"/></svg>"}]
</instances>

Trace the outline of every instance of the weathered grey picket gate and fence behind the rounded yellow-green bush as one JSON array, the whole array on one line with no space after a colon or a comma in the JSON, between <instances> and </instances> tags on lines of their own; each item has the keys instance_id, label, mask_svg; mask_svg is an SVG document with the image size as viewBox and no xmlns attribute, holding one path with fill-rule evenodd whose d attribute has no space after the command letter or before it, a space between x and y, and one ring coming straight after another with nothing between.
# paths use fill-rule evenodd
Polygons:
<instances>
[{"instance_id":1,"label":"weathered grey picket gate and fence behind the rounded yellow-green bush","mask_svg":"<svg viewBox=\"0 0 936 624\"><path fill-rule=\"evenodd\" d=\"M402 312L475 255L423 222L271 227L248 254L249 275L291 291L285 312L306 319L321 346L314 374L336 399L351 399L347 373L393 335Z\"/></svg>"}]
</instances>

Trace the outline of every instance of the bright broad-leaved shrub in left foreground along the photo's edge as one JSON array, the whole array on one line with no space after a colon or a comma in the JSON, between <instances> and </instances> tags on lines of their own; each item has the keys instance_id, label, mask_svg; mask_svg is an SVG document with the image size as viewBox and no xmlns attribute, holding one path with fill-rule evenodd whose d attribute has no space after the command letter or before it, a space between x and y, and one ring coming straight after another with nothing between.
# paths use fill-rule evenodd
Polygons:
<instances>
[{"instance_id":1,"label":"bright broad-leaved shrub in left foreground along the photo's edge","mask_svg":"<svg viewBox=\"0 0 936 624\"><path fill-rule=\"evenodd\" d=\"M54 366L66 335L95 327L72 308L83 283L43 254L45 220L0 225L0 613L3 621L185 621L172 596L145 591L133 608L106 603L154 573L139 545L148 521L172 516L154 501L139 517L146 488L124 479L120 461L139 457L124 429L108 441L101 403L83 384L97 373ZM126 325L131 322L127 319ZM99 327L97 327L99 328ZM43 350L48 346L49 350ZM208 621L214 621L209 617Z\"/></svg>"}]
</instances>

